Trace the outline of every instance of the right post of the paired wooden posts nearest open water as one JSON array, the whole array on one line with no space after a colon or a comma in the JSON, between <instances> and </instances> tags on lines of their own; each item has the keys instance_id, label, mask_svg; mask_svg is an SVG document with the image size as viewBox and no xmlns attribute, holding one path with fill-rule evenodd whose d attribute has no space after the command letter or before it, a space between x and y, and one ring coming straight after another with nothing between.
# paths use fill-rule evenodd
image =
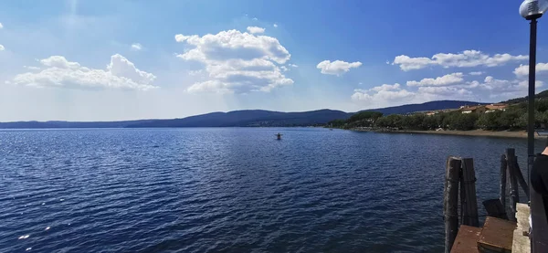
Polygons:
<instances>
[{"instance_id":1,"label":"right post of the paired wooden posts nearest open water","mask_svg":"<svg viewBox=\"0 0 548 253\"><path fill-rule=\"evenodd\" d=\"M479 227L474 160L472 158L464 158L461 163L460 214L462 216L462 225Z\"/></svg>"}]
</instances>

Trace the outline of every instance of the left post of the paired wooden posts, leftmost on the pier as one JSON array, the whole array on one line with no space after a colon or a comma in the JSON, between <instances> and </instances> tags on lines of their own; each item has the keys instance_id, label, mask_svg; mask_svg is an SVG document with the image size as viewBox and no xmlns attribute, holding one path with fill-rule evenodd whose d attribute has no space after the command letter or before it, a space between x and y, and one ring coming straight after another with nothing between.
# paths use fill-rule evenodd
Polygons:
<instances>
[{"instance_id":1,"label":"left post of the paired wooden posts, leftmost on the pier","mask_svg":"<svg viewBox=\"0 0 548 253\"><path fill-rule=\"evenodd\" d=\"M458 179L460 160L449 157L446 169L443 214L445 218L445 252L449 253L458 233Z\"/></svg>"}]
</instances>

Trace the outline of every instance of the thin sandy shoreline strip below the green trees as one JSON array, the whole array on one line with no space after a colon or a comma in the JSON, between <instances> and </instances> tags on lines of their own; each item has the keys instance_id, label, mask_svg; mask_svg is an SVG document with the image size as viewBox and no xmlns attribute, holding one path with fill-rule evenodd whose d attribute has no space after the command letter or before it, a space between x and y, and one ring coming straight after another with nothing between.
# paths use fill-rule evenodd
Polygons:
<instances>
[{"instance_id":1,"label":"thin sandy shoreline strip below the green trees","mask_svg":"<svg viewBox=\"0 0 548 253\"><path fill-rule=\"evenodd\" d=\"M364 130L351 129L352 131L364 132ZM382 131L367 131L367 132L382 132ZM527 138L527 132L525 131L485 131L485 130L470 130L470 131L413 131L413 130L399 130L388 131L382 133L421 133L421 134L445 134L445 135L460 135L460 136L482 136L482 137L502 137L502 138ZM535 133L534 139L543 139Z\"/></svg>"}]
</instances>

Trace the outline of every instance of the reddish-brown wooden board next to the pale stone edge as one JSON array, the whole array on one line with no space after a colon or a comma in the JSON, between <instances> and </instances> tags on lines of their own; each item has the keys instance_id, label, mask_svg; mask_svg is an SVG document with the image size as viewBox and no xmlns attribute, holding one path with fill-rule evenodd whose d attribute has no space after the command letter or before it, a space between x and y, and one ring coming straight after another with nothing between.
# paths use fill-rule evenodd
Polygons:
<instances>
[{"instance_id":1,"label":"reddish-brown wooden board next to the pale stone edge","mask_svg":"<svg viewBox=\"0 0 548 253\"><path fill-rule=\"evenodd\" d=\"M511 252L516 223L487 216L478 240L479 252Z\"/></svg>"}]
</instances>

